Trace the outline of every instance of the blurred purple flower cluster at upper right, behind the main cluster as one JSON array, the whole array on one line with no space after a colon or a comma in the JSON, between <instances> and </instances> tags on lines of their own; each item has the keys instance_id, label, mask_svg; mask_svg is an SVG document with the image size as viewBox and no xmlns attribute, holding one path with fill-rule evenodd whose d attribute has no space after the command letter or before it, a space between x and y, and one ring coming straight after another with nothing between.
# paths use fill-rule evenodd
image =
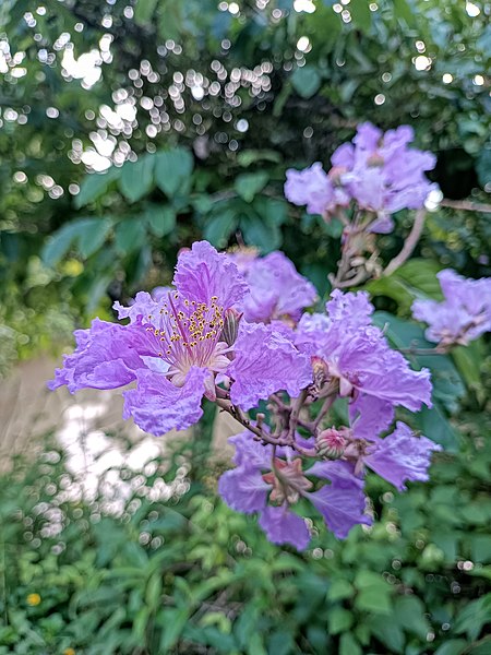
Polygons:
<instances>
[{"instance_id":1,"label":"blurred purple flower cluster at upper right, behind the main cluster","mask_svg":"<svg viewBox=\"0 0 491 655\"><path fill-rule=\"evenodd\" d=\"M436 188L424 176L434 168L435 157L409 148L412 140L409 126L383 133L369 122L362 123L352 143L335 151L328 174L319 162L301 171L287 170L285 195L294 204L307 205L308 212L324 216L355 202L357 209L374 215L371 231L391 231L391 214L422 207Z\"/></svg>"}]
</instances>

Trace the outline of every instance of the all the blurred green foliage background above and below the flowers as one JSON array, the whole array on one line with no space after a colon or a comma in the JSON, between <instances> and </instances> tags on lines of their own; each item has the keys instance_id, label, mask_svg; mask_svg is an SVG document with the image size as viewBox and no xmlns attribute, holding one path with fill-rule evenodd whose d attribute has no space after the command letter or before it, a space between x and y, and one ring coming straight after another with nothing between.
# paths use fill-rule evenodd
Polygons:
<instances>
[{"instance_id":1,"label":"all the blurred green foliage background above and below the flowers","mask_svg":"<svg viewBox=\"0 0 491 655\"><path fill-rule=\"evenodd\" d=\"M168 284L201 237L282 248L324 296L340 224L289 206L285 169L326 163L360 121L414 126L445 195L487 202L490 4L300 5L315 11L0 3L0 376L109 318L111 300ZM386 261L411 216L396 221L380 237ZM409 309L439 298L441 267L491 273L490 225L442 207L416 258L367 285L395 347L429 345ZM130 488L119 515L104 480L92 499L69 492L80 480L56 449L17 461L0 477L0 655L487 655L489 356L480 340L409 359L431 369L435 407L410 420L451 452L406 495L369 476L371 532L338 543L321 529L304 555L215 497L206 440L146 473L112 471ZM163 477L167 500L152 491Z\"/></svg>"}]
</instances>

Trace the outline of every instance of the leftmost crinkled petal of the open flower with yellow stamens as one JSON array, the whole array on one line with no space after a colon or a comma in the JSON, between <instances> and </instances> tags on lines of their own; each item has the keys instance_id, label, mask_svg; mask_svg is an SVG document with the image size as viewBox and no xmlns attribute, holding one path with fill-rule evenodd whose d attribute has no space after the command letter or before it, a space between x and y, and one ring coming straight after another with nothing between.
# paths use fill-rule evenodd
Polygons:
<instances>
[{"instance_id":1,"label":"leftmost crinkled petal of the open flower with yellow stamens","mask_svg":"<svg viewBox=\"0 0 491 655\"><path fill-rule=\"evenodd\" d=\"M145 368L141 355L153 355L145 330L95 319L89 330L75 332L77 348L65 355L63 368L57 369L49 389L67 385L70 393L80 389L117 389L135 379Z\"/></svg>"}]
</instances>

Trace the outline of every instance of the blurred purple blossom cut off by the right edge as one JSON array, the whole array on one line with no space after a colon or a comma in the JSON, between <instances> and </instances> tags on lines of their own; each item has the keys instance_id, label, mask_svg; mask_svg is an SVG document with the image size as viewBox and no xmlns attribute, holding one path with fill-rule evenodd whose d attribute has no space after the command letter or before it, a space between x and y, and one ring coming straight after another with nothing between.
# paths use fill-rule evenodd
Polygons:
<instances>
[{"instance_id":1,"label":"blurred purple blossom cut off by the right edge","mask_svg":"<svg viewBox=\"0 0 491 655\"><path fill-rule=\"evenodd\" d=\"M445 299L416 300L412 315L429 324L426 336L446 347L452 344L466 346L491 331L491 278L467 279L455 271L440 271L440 281Z\"/></svg>"}]
</instances>

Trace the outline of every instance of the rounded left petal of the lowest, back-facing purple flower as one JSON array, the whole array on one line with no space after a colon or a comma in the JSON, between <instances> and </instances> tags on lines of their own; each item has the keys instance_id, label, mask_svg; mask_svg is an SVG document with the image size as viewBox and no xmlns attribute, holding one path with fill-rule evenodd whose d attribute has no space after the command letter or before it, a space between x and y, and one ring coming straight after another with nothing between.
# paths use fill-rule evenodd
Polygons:
<instances>
[{"instance_id":1,"label":"rounded left petal of the lowest, back-facing purple flower","mask_svg":"<svg viewBox=\"0 0 491 655\"><path fill-rule=\"evenodd\" d=\"M263 510L271 488L258 469L247 466L226 471L218 480L218 492L225 502L244 514Z\"/></svg>"}]
</instances>

